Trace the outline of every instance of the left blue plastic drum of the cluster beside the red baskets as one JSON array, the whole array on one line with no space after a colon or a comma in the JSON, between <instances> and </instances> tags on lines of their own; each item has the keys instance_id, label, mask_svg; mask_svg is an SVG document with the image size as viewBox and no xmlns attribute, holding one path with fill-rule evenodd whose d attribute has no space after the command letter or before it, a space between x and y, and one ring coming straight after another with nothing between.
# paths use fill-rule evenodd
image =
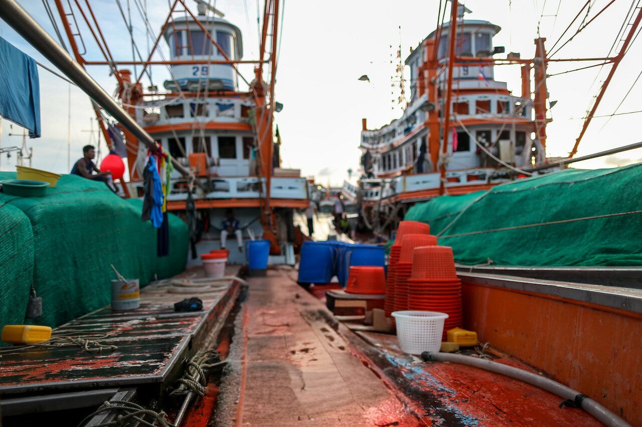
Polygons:
<instances>
[{"instance_id":1,"label":"left blue plastic drum of the cluster beside the red baskets","mask_svg":"<svg viewBox=\"0 0 642 427\"><path fill-rule=\"evenodd\" d=\"M338 252L334 242L304 242L299 263L299 283L329 283Z\"/></svg>"}]
</instances>

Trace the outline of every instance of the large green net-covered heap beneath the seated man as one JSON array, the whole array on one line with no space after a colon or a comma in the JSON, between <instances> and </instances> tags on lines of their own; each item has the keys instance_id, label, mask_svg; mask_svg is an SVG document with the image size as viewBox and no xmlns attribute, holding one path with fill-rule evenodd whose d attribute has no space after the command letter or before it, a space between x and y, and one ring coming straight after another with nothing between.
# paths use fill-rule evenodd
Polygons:
<instances>
[{"instance_id":1,"label":"large green net-covered heap beneath the seated man","mask_svg":"<svg viewBox=\"0 0 642 427\"><path fill-rule=\"evenodd\" d=\"M15 172L0 172L0 180L12 178ZM11 261L0 277L20 277L21 281L4 281L3 287L17 289L19 296L14 300L22 305L26 305L24 290L28 297L30 289L25 283L33 280L42 297L43 314L28 323L58 326L108 305L110 280L116 278L110 264L127 278L139 278L143 286L184 270L189 238L186 224L175 215L169 215L169 256L159 258L157 230L141 221L141 201L125 201L104 183L75 175L62 176L56 187L46 191L45 197L0 193L0 215L17 211L26 220L20 232L3 235L3 246L26 248L22 249L26 264L19 265L26 272L20 275ZM0 262L3 257L4 253ZM24 310L16 308L15 312L0 323L21 323L19 314L24 315Z\"/></svg>"}]
</instances>

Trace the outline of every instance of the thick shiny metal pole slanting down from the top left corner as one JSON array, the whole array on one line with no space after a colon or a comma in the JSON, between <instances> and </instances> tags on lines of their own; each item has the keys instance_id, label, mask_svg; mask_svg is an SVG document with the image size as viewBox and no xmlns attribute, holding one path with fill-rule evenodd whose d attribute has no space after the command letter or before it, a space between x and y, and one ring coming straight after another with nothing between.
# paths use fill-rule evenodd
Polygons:
<instances>
[{"instance_id":1,"label":"thick shiny metal pole slanting down from the top left corner","mask_svg":"<svg viewBox=\"0 0 642 427\"><path fill-rule=\"evenodd\" d=\"M139 141L153 150L157 149L154 138L123 110L15 0L0 0L0 17ZM171 163L183 176L193 176L175 158L171 159Z\"/></svg>"}]
</instances>

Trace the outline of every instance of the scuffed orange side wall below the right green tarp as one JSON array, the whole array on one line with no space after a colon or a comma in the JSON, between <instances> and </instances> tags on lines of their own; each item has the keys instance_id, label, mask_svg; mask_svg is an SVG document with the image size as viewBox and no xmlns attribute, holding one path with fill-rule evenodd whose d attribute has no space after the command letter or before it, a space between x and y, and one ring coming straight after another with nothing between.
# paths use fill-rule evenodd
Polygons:
<instances>
[{"instance_id":1,"label":"scuffed orange side wall below the right green tarp","mask_svg":"<svg viewBox=\"0 0 642 427\"><path fill-rule=\"evenodd\" d=\"M480 340L642 425L642 316L467 282L463 296L465 326Z\"/></svg>"}]
</instances>

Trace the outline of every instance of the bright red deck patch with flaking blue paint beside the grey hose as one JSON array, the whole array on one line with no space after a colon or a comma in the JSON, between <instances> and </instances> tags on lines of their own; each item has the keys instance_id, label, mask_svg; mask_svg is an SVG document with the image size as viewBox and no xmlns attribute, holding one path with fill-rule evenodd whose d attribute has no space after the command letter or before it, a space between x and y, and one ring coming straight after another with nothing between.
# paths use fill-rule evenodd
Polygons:
<instances>
[{"instance_id":1,"label":"bright red deck patch with flaking blue paint beside the grey hose","mask_svg":"<svg viewBox=\"0 0 642 427\"><path fill-rule=\"evenodd\" d=\"M404 355L394 335L363 333L360 356L387 376L405 396L421 404L423 421L433 426L599 426L578 409L559 408L562 399L537 387L458 364L426 364ZM354 343L354 340L351 340ZM532 369L512 359L496 362Z\"/></svg>"}]
</instances>

